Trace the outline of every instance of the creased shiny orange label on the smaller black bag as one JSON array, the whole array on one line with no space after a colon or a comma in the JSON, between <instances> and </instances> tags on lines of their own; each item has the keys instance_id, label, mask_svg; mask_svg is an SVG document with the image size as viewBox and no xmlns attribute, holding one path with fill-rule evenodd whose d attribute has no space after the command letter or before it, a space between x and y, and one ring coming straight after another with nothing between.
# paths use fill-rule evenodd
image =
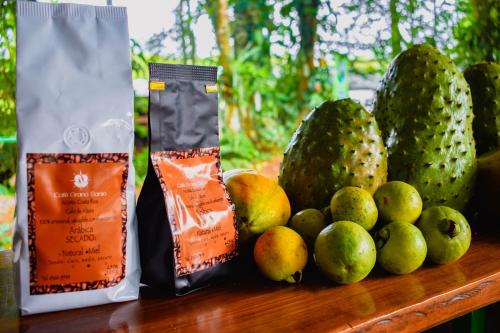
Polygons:
<instances>
[{"instance_id":1,"label":"creased shiny orange label on the smaller black bag","mask_svg":"<svg viewBox=\"0 0 500 333\"><path fill-rule=\"evenodd\" d=\"M153 152L165 196L177 276L236 255L236 224L219 166L218 148Z\"/></svg>"}]
</instances>

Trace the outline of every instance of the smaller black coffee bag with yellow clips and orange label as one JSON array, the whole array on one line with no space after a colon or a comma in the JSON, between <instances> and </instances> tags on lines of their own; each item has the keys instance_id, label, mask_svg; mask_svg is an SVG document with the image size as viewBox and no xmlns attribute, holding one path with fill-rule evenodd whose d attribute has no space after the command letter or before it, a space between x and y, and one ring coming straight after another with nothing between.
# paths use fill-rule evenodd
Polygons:
<instances>
[{"instance_id":1,"label":"smaller black coffee bag with yellow clips and orange label","mask_svg":"<svg viewBox=\"0 0 500 333\"><path fill-rule=\"evenodd\" d=\"M182 295L229 273L234 206L222 181L216 67L149 65L149 165L137 204L142 279Z\"/></svg>"}]
</instances>

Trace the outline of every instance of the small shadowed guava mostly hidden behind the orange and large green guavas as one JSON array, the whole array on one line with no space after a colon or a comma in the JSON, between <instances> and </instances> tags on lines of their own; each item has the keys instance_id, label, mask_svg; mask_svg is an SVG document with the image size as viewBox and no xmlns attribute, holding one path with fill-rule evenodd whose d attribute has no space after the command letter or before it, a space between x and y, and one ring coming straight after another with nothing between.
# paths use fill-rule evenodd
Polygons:
<instances>
[{"instance_id":1,"label":"small shadowed guava mostly hidden behind the orange and large green guavas","mask_svg":"<svg viewBox=\"0 0 500 333\"><path fill-rule=\"evenodd\" d=\"M301 210L288 222L288 226L302 236L309 248L314 247L316 237L327 225L323 213L314 208Z\"/></svg>"}]
</instances>

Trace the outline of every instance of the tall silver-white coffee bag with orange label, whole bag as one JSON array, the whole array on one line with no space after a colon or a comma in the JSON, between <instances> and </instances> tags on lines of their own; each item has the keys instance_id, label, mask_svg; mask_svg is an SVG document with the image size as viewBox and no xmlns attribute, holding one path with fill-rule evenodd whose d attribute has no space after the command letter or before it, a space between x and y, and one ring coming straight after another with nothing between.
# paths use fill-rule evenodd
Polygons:
<instances>
[{"instance_id":1,"label":"tall silver-white coffee bag with orange label, whole bag","mask_svg":"<svg viewBox=\"0 0 500 333\"><path fill-rule=\"evenodd\" d=\"M16 88L21 313L137 299L126 9L18 1Z\"/></svg>"}]
</instances>

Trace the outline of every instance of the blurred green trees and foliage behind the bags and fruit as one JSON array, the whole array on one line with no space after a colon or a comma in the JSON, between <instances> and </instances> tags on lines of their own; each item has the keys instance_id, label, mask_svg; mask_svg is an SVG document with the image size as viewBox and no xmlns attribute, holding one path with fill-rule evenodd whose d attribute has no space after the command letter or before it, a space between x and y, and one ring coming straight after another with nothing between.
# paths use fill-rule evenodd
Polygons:
<instances>
[{"instance_id":1,"label":"blurred green trees and foliage behind the bags and fruit","mask_svg":"<svg viewBox=\"0 0 500 333\"><path fill-rule=\"evenodd\" d=\"M196 57L193 25L203 14L215 32L215 57ZM353 78L376 81L412 44L433 44L462 68L498 60L499 15L498 0L180 0L171 30L143 45L131 40L133 77L147 80L149 61L218 66L223 168L276 169L311 108L356 97ZM0 19L2 249L10 244L15 193L15 1L0 0ZM172 40L178 52L166 55ZM369 106L369 94L362 102ZM136 94L135 115L140 185L147 166L144 93Z\"/></svg>"}]
</instances>

